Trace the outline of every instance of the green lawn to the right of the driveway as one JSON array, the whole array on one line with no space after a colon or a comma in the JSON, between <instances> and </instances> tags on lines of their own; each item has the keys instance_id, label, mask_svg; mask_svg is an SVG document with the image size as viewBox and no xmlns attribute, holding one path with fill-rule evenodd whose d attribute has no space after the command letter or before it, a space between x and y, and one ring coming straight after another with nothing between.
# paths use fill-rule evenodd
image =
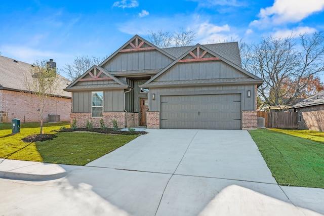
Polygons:
<instances>
[{"instance_id":1,"label":"green lawn to the right of the driveway","mask_svg":"<svg viewBox=\"0 0 324 216\"><path fill-rule=\"evenodd\" d=\"M279 185L324 188L324 143L269 129L250 134Z\"/></svg>"}]
</instances>

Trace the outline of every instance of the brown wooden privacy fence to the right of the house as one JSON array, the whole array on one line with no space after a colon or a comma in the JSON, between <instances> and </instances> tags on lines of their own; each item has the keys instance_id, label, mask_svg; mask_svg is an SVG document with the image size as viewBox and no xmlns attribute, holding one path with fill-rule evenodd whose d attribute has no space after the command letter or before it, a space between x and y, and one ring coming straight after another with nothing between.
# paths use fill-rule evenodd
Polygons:
<instances>
[{"instance_id":1,"label":"brown wooden privacy fence to the right of the house","mask_svg":"<svg viewBox=\"0 0 324 216\"><path fill-rule=\"evenodd\" d=\"M297 112L258 112L258 117L264 118L268 128L297 128Z\"/></svg>"}]
</instances>

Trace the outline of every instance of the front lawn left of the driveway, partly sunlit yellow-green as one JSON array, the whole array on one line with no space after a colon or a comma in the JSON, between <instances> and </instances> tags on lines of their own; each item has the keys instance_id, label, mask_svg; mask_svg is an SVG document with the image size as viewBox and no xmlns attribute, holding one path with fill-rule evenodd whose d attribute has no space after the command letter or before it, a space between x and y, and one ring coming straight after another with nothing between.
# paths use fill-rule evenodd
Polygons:
<instances>
[{"instance_id":1,"label":"front lawn left of the driveway, partly sunlit yellow-green","mask_svg":"<svg viewBox=\"0 0 324 216\"><path fill-rule=\"evenodd\" d=\"M21 139L39 133L39 124L25 123L20 133L11 135L11 124L0 124L0 158L85 165L125 145L138 135L109 135L97 133L56 133L60 126L70 127L67 122L46 123L43 131L58 136L54 140L24 143Z\"/></svg>"}]
</instances>

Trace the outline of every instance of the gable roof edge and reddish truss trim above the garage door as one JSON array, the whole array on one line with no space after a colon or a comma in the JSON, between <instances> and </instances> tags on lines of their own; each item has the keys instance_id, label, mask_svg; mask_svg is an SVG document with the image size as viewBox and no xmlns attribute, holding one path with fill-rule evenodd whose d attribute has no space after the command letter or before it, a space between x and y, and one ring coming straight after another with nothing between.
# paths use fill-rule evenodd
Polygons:
<instances>
[{"instance_id":1,"label":"gable roof edge and reddish truss trim above the garage door","mask_svg":"<svg viewBox=\"0 0 324 216\"><path fill-rule=\"evenodd\" d=\"M246 83L246 82L249 82L249 83L256 83L259 85L261 85L263 83L263 80L260 79L259 77L255 76L254 74L244 70L243 68L241 68L240 66L232 63L231 61L227 60L226 58L224 58L223 56L219 55L219 54L216 54L215 52L211 51L210 49L208 49L207 47L203 46L203 45L200 45L200 44L197 44L193 47L191 47L189 50L187 50L187 52L185 52L184 54L182 54L178 59L176 59L174 62L172 62L170 65L168 65L166 68L164 68L163 70L161 70L159 73L157 73L155 76L153 76L151 79L149 79L147 82L145 82L143 85L141 85L141 87L150 87L150 86L157 86L157 85L166 85L166 84L169 84L169 85L186 85L186 84L201 84L202 81L201 80L186 80L186 81L169 81L168 82L164 82L164 83L159 83L159 82L156 82L155 84L153 83L153 81L155 79L157 79L161 74L165 73L166 71L168 71L172 66L174 66L175 64L177 64L178 62L181 62L181 61L186 61L185 59L183 59L184 57L186 57L187 55L189 55L192 51L194 51L195 49L198 50L198 48L201 48L203 50L205 50L205 52L211 54L212 56L215 56L215 58L212 58L212 59L218 59L218 60L221 60L225 63L227 63L228 65L234 67L235 69L237 69L238 71L246 74L249 78L241 78L241 79L237 79L235 78L234 79L217 79L217 80L209 80L209 82L212 84L215 84L215 83L219 83L219 84L223 84L223 83ZM190 54L191 55L191 54ZM206 81L204 81L204 84L208 84L206 83Z\"/></svg>"}]
</instances>

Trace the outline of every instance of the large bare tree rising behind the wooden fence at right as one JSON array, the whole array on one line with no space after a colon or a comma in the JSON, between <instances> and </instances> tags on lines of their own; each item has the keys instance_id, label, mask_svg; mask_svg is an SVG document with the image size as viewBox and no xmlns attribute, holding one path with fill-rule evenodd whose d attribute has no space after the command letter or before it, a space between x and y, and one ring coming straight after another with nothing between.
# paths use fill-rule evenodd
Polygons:
<instances>
[{"instance_id":1,"label":"large bare tree rising behind the wooden fence at right","mask_svg":"<svg viewBox=\"0 0 324 216\"><path fill-rule=\"evenodd\" d=\"M262 38L240 46L242 67L261 77L258 93L269 106L288 105L302 94L310 77L324 71L324 35L302 34L299 39ZM287 85L291 80L294 85ZM306 80L306 81L305 81Z\"/></svg>"}]
</instances>

